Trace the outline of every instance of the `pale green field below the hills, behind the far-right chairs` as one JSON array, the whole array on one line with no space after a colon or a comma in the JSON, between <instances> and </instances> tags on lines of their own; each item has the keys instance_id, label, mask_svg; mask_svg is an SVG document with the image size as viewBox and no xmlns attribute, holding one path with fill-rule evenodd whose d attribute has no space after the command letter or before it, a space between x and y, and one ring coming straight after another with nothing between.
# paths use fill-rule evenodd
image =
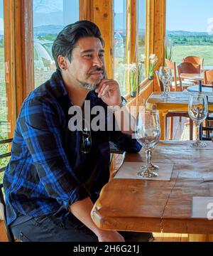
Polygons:
<instances>
[{"instance_id":1,"label":"pale green field below the hills, behind the far-right chairs","mask_svg":"<svg viewBox=\"0 0 213 256\"><path fill-rule=\"evenodd\" d=\"M182 58L188 55L195 55L204 58L204 65L213 65L212 46L173 46L173 60L182 63Z\"/></svg>"}]
</instances>

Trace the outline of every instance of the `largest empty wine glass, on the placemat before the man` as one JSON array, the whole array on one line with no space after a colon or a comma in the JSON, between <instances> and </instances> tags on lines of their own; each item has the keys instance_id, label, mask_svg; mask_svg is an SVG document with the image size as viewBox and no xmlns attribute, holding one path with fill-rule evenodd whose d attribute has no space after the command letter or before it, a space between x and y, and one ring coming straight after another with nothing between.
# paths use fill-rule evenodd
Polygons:
<instances>
[{"instance_id":1,"label":"largest empty wine glass, on the placemat before the man","mask_svg":"<svg viewBox=\"0 0 213 256\"><path fill-rule=\"evenodd\" d=\"M151 163L152 150L160 139L160 122L158 111L143 110L138 114L136 139L142 143L146 151L146 165L141 166L138 176L151 178L158 176L159 167Z\"/></svg>"}]
</instances>

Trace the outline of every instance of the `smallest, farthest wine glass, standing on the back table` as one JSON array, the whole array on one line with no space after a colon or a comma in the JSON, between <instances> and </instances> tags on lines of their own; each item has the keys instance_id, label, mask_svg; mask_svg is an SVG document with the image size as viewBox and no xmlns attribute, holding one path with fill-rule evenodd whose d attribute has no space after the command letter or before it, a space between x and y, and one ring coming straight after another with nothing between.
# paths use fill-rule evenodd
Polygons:
<instances>
[{"instance_id":1,"label":"smallest, farthest wine glass, standing on the back table","mask_svg":"<svg viewBox=\"0 0 213 256\"><path fill-rule=\"evenodd\" d=\"M168 90L172 80L172 72L168 67L160 67L159 78L163 82L163 93L162 96L168 98Z\"/></svg>"}]
</instances>

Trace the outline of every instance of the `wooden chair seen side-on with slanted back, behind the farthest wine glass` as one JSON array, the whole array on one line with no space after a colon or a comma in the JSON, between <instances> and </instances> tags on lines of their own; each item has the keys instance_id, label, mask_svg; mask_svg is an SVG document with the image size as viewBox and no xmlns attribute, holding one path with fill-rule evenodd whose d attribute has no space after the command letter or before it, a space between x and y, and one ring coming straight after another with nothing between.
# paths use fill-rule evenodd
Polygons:
<instances>
[{"instance_id":1,"label":"wooden chair seen side-on with slanted back, behind the farthest wine glass","mask_svg":"<svg viewBox=\"0 0 213 256\"><path fill-rule=\"evenodd\" d=\"M170 68L170 70L172 70L171 75L173 75L173 82L172 82L172 90L173 91L180 92L180 91L182 91L182 87L188 87L188 86L195 85L195 82L188 81L188 80L182 80L182 82L180 82L180 79L177 76L177 66L176 66L175 62L165 59L165 65L167 65L168 68Z\"/></svg>"}]
</instances>

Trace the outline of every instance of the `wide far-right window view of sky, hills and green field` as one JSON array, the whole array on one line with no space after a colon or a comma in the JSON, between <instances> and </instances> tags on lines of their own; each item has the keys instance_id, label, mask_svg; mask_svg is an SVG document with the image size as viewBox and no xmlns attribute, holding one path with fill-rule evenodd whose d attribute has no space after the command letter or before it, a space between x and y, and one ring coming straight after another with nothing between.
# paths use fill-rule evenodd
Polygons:
<instances>
[{"instance_id":1,"label":"wide far-right window view of sky, hills and green field","mask_svg":"<svg viewBox=\"0 0 213 256\"><path fill-rule=\"evenodd\" d=\"M212 0L167 0L166 35L173 61L179 64L187 55L196 55L204 58L204 65L213 65L212 9Z\"/></svg>"}]
</instances>

